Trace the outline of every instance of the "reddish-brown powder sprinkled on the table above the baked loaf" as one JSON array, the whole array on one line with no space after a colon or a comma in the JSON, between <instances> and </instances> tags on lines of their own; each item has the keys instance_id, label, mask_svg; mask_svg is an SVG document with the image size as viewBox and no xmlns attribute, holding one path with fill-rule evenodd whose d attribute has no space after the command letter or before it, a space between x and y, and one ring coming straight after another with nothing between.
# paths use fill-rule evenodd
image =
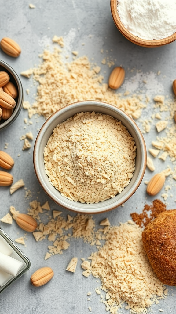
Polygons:
<instances>
[{"instance_id":1,"label":"reddish-brown powder sprinkled on the table above the baked loaf","mask_svg":"<svg viewBox=\"0 0 176 314\"><path fill-rule=\"evenodd\" d=\"M145 204L142 213L131 213L132 220L141 228L146 227L150 221L166 210L166 205L159 199L155 199L152 205Z\"/></svg>"}]
</instances>

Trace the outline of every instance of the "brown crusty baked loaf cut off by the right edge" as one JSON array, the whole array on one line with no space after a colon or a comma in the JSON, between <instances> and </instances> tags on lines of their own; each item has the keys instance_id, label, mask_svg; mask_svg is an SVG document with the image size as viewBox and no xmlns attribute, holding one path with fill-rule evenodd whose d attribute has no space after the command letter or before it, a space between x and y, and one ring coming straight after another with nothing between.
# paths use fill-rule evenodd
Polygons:
<instances>
[{"instance_id":1,"label":"brown crusty baked loaf cut off by the right edge","mask_svg":"<svg viewBox=\"0 0 176 314\"><path fill-rule=\"evenodd\" d=\"M176 285L176 209L162 212L142 232L149 262L163 284Z\"/></svg>"}]
</instances>

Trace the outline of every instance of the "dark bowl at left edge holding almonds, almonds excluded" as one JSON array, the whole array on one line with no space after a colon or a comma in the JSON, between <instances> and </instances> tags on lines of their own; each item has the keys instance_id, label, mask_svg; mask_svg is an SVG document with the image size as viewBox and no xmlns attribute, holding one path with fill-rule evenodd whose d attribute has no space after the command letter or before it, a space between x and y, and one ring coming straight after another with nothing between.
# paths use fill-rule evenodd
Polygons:
<instances>
[{"instance_id":1,"label":"dark bowl at left edge holding almonds, almonds excluded","mask_svg":"<svg viewBox=\"0 0 176 314\"><path fill-rule=\"evenodd\" d=\"M6 127L8 127L9 125L11 125L18 117L23 106L23 87L17 73L13 70L13 68L11 68L6 62L2 60L0 60L0 71L5 71L8 73L8 75L10 76L10 81L16 86L18 90L18 96L15 99L16 106L13 110L12 116L10 116L10 118L8 118L7 120L3 120L3 119L0 120L0 131L1 131L5 129Z\"/></svg>"}]
</instances>

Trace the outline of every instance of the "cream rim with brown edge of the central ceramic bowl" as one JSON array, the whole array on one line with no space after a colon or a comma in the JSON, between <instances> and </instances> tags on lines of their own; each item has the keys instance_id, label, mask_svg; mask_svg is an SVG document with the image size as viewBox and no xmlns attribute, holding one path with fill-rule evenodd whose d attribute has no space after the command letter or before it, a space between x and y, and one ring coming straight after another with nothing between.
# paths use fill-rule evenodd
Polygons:
<instances>
[{"instance_id":1,"label":"cream rim with brown edge of the central ceramic bowl","mask_svg":"<svg viewBox=\"0 0 176 314\"><path fill-rule=\"evenodd\" d=\"M86 109L82 110L82 109L80 109L80 108L82 108L83 105L85 107L86 107L86 105L87 106L92 106L92 110L86 110ZM139 171L137 182L135 181L135 183L134 183L133 187L131 188L130 192L128 192L127 195L125 197L123 197L121 201L117 200L117 202L114 202L116 196L115 196L115 198L110 198L110 199L105 200L103 202L93 203L93 204L74 202L74 201L68 200L67 198L65 198L61 194L60 194L61 195L61 200L59 198L56 199L56 197L54 196L54 193L52 192L52 189L54 189L53 190L54 192L55 191L59 192L59 191L57 189L55 189L55 187L53 187L51 185L51 183L49 182L48 176L46 175L45 171L43 171L45 173L44 176L42 174L42 167L44 169L44 163L43 163L43 166L42 166L41 158L40 158L41 157L40 147L42 146L41 145L42 141L47 143L47 141L49 139L49 137L48 137L47 140L44 141L43 140L43 136L44 136L47 128L49 126L51 126L52 123L54 121L56 121L59 116L62 116L63 114L65 114L65 112L69 112L70 113L71 110L75 110L76 112L94 111L93 108L96 105L99 106L99 107L102 106L102 105L105 105L106 108L108 108L107 110L111 109L112 111L115 111L116 113L120 114L124 118L127 118L128 122L131 124L132 128L135 130L135 132L137 134L137 137L140 139L140 144L141 144L141 147L142 147L142 149L141 149L141 151L142 151L142 160L141 160L141 169ZM100 111L95 110L95 112L100 112ZM101 110L101 112L105 113L103 110ZM73 116L74 114L70 114L70 116L68 116L67 118ZM66 119L58 122L57 124L65 121ZM120 119L119 119L119 121L120 121ZM56 127L57 124L54 124L54 127ZM53 132L54 127L52 127L52 132ZM50 135L52 134L52 132L50 133ZM95 100L77 101L77 102L74 102L72 104L66 105L66 106L62 107L61 109L55 111L44 122L44 124L40 128L39 133L38 133L38 135L36 137L36 140L35 140L35 143L34 143L33 164L34 164L34 171L35 171L35 174L37 176L37 179L39 181L40 186L43 188L44 192L49 196L49 198L51 198L56 204L60 205L62 208L65 208L67 210L70 210L70 211L73 211L73 212L76 212L76 213L80 213L80 214L100 214L100 213L107 212L107 211L110 211L112 209L115 209L115 208L119 207L120 205L122 205L123 203L125 203L136 192L137 188L139 187L139 185L140 185L140 183L141 183L141 181L143 179L144 173L145 173L146 163L147 163L146 145L145 145L145 141L144 141L142 132L140 131L140 129L137 126L136 122L125 111L122 111L121 109L117 108L116 106L110 105L110 104L108 104L106 102L102 102L102 101L95 101ZM47 188L47 184L45 183L46 180L45 180L44 177L47 178L47 183L49 182L49 185L50 185L49 186L49 190ZM120 194L117 194L117 196L118 195L120 195ZM67 201L65 201L65 200L67 200ZM106 204L110 200L111 200L112 204L110 204L108 206L108 208L107 208ZM68 205L68 203L69 203L69 205ZM79 205L80 208L77 208L77 206L76 206L78 203L80 204ZM98 209L97 209L97 207L98 207Z\"/></svg>"}]
</instances>

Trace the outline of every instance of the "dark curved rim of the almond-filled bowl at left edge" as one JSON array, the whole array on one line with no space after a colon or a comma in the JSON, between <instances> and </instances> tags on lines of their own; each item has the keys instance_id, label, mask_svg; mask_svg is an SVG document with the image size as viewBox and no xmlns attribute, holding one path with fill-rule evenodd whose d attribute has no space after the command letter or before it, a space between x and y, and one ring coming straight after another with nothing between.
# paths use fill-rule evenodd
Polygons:
<instances>
[{"instance_id":1,"label":"dark curved rim of the almond-filled bowl at left edge","mask_svg":"<svg viewBox=\"0 0 176 314\"><path fill-rule=\"evenodd\" d=\"M10 118L8 118L7 120L5 120L3 123L0 124L0 131L1 131L5 129L6 127L8 127L9 125L11 125L19 116L19 113L23 107L23 87L22 87L22 83L20 81L18 74L8 63L4 62L3 60L0 60L0 66L4 67L4 71L8 70L8 72L13 76L15 83L17 85L17 88L18 88L18 102L12 113L12 116L10 116Z\"/></svg>"}]
</instances>

